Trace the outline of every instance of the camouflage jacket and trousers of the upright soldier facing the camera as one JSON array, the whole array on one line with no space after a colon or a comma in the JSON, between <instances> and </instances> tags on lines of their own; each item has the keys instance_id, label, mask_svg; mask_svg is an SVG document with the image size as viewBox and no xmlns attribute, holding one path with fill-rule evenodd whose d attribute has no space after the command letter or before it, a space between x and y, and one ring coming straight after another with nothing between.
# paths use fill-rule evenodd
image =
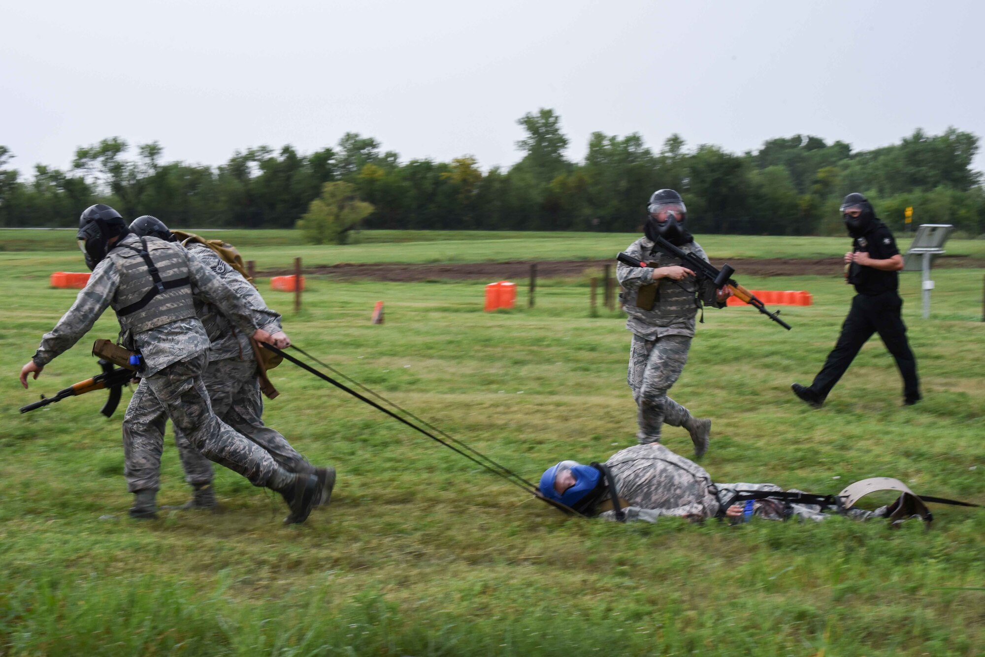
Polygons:
<instances>
[{"instance_id":1,"label":"camouflage jacket and trousers of the upright soldier facing the camera","mask_svg":"<svg viewBox=\"0 0 985 657\"><path fill-rule=\"evenodd\" d=\"M705 262L708 260L697 242L689 242L680 249L696 254ZM661 263L660 267L677 264L676 260L672 261L671 257L656 251L653 241L646 237L630 244L625 253L641 261ZM706 279L697 280L688 276L681 281L670 278L654 281L653 269L629 267L623 263L618 265L616 275L624 289L620 302L629 316L625 328L632 331L626 382L632 388L632 397L637 406L639 431L636 438L641 444L657 443L663 424L689 428L693 419L687 408L667 395L688 362L690 340L694 336L694 316L698 310L697 301L690 297L696 294L702 304L715 308L722 308L725 304L717 301L716 290ZM677 305L658 304L653 310L639 308L636 301L640 287L654 282L659 293L677 293L679 297L688 298L677 301Z\"/></svg>"}]
</instances>

